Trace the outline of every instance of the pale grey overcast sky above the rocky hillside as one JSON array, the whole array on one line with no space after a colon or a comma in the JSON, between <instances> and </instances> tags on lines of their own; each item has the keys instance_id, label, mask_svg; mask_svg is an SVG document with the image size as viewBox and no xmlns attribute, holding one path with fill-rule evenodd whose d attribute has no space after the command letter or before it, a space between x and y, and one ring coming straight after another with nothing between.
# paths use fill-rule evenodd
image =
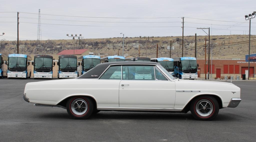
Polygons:
<instances>
[{"instance_id":1,"label":"pale grey overcast sky above the rocky hillside","mask_svg":"<svg viewBox=\"0 0 256 142\"><path fill-rule=\"evenodd\" d=\"M17 11L20 12L19 40L37 40L38 9L41 9L42 40L72 39L71 37L67 37L66 34L82 34L84 38L121 37L121 32L124 33L125 37L182 36L182 19L180 17L185 17L185 36L195 35L195 33L197 33L197 35L206 35L204 31L196 29L197 27L210 27L210 35L230 35L230 32L231 34L248 34L249 20L246 21L244 15L249 15L253 11L256 11L255 3L249 0L215 0L205 2L191 0L13 0L1 1L0 9L0 33L5 32L4 36L0 36L0 40L3 38L6 40L17 39ZM192 18L210 20L199 20ZM256 34L256 18L252 19L251 34Z\"/></svg>"}]
</instances>

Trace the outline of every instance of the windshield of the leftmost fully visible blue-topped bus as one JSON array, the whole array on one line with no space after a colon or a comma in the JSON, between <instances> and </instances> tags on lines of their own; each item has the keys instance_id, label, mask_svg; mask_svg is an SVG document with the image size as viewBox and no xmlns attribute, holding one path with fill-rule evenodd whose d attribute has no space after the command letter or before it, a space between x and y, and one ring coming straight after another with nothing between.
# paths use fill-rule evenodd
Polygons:
<instances>
[{"instance_id":1,"label":"windshield of the leftmost fully visible blue-topped bus","mask_svg":"<svg viewBox=\"0 0 256 142\"><path fill-rule=\"evenodd\" d=\"M24 57L9 57L8 68L26 69L27 58Z\"/></svg>"}]
</instances>

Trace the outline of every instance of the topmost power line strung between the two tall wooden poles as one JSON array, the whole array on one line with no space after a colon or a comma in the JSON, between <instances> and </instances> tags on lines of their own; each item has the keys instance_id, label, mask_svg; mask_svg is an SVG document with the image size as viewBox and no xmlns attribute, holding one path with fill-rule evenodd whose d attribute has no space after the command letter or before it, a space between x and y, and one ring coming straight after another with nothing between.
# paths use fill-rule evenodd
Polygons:
<instances>
[{"instance_id":1,"label":"topmost power line strung between the two tall wooden poles","mask_svg":"<svg viewBox=\"0 0 256 142\"><path fill-rule=\"evenodd\" d=\"M30 12L19 12L26 14L37 14ZM162 18L180 18L180 17L136 17L136 18L126 18L126 17L89 17L89 16L69 16L69 15L53 15L53 14L41 14L41 15L49 15L49 16L65 16L65 17L83 17L83 18L112 18L112 19L162 19Z\"/></svg>"}]
</instances>

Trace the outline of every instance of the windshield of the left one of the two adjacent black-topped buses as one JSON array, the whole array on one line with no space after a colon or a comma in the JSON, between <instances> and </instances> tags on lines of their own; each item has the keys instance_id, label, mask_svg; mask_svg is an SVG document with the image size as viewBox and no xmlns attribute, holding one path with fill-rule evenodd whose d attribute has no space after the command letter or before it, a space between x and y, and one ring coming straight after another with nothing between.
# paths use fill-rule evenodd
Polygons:
<instances>
[{"instance_id":1,"label":"windshield of the left one of the two adjacent black-topped buses","mask_svg":"<svg viewBox=\"0 0 256 142\"><path fill-rule=\"evenodd\" d=\"M35 69L51 69L51 58L35 58Z\"/></svg>"}]
</instances>

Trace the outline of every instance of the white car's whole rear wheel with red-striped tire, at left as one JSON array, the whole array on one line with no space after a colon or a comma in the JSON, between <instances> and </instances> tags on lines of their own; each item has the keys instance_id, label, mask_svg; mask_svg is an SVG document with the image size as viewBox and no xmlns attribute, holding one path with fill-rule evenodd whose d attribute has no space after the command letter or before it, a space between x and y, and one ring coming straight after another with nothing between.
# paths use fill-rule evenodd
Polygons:
<instances>
[{"instance_id":1,"label":"white car's whole rear wheel with red-striped tire, at left","mask_svg":"<svg viewBox=\"0 0 256 142\"><path fill-rule=\"evenodd\" d=\"M72 97L67 101L67 112L74 119L87 119L93 112L93 102L88 97Z\"/></svg>"}]
</instances>

